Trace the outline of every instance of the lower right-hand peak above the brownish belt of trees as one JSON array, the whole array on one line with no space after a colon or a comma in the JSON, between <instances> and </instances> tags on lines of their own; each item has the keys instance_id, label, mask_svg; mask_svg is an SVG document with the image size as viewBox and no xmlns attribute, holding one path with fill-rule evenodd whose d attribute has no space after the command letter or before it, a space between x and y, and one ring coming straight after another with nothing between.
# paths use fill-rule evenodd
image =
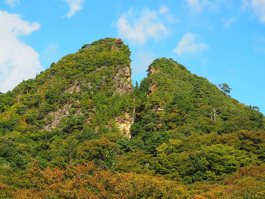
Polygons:
<instances>
[{"instance_id":1,"label":"lower right-hand peak above the brownish belt of trees","mask_svg":"<svg viewBox=\"0 0 265 199\"><path fill-rule=\"evenodd\" d=\"M236 130L264 129L264 116L257 110L224 94L206 78L191 74L172 59L156 59L147 70L148 77L141 81L137 112L143 124L141 111L157 115L157 128L173 130L175 135L191 132L231 133ZM214 109L217 113L214 118ZM212 116L211 116L212 114ZM174 122L168 120L169 118ZM214 122L215 120L215 122ZM174 124L173 124L173 123ZM161 125L161 127L159 126ZM173 126L172 126L173 125Z\"/></svg>"}]
</instances>

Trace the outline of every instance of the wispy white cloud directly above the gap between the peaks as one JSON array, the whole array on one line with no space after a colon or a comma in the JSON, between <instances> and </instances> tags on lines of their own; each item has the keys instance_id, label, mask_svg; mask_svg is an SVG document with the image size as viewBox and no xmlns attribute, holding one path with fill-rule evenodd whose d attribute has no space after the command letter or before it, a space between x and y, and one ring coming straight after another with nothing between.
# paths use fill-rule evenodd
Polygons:
<instances>
[{"instance_id":1,"label":"wispy white cloud directly above the gap between the peaks","mask_svg":"<svg viewBox=\"0 0 265 199\"><path fill-rule=\"evenodd\" d=\"M130 9L116 23L120 37L140 45L152 38L159 40L167 35L168 30L158 18L159 11L143 9L139 17L135 13L135 10Z\"/></svg>"}]
</instances>

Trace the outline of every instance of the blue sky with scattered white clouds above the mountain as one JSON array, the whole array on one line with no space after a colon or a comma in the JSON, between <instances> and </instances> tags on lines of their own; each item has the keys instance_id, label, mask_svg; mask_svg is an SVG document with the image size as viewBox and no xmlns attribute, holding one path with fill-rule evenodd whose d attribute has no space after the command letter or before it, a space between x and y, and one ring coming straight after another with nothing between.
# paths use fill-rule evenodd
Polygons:
<instances>
[{"instance_id":1,"label":"blue sky with scattered white clouds above the mountain","mask_svg":"<svg viewBox=\"0 0 265 199\"><path fill-rule=\"evenodd\" d=\"M265 0L0 0L0 91L105 37L129 44L133 81L171 57L265 113Z\"/></svg>"}]
</instances>

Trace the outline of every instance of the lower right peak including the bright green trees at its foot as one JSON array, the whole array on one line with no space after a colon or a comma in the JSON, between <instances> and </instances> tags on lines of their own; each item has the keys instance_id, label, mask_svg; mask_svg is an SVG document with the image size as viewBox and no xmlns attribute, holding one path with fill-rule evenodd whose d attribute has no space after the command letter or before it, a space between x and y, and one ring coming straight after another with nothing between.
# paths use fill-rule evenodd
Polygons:
<instances>
[{"instance_id":1,"label":"lower right peak including the bright green trees at its foot","mask_svg":"<svg viewBox=\"0 0 265 199\"><path fill-rule=\"evenodd\" d=\"M131 142L155 154L155 174L184 183L216 182L239 167L263 164L262 113L172 59L156 59L147 72L134 90Z\"/></svg>"}]
</instances>

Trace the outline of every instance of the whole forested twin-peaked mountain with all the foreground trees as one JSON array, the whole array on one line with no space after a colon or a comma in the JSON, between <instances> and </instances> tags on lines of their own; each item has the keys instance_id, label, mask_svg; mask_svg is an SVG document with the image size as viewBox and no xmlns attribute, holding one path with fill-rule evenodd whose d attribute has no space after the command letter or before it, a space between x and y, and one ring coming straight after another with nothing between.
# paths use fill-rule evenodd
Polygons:
<instances>
[{"instance_id":1,"label":"whole forested twin-peaked mountain with all the foreground trees","mask_svg":"<svg viewBox=\"0 0 265 199\"><path fill-rule=\"evenodd\" d=\"M265 117L105 38L0 93L0 198L265 198Z\"/></svg>"}]
</instances>

